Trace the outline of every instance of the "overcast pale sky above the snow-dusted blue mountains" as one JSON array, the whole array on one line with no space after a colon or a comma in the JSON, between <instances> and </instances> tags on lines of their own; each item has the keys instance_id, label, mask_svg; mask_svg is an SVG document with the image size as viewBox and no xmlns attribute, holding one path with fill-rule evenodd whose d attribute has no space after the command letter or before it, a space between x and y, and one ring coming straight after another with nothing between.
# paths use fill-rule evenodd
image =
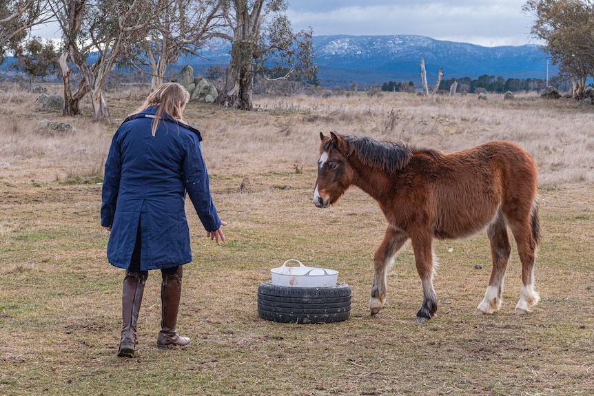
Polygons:
<instances>
[{"instance_id":1,"label":"overcast pale sky above the snow-dusted blue mountains","mask_svg":"<svg viewBox=\"0 0 594 396\"><path fill-rule=\"evenodd\" d=\"M289 0L294 30L327 34L417 34L494 47L538 44L526 0Z\"/></svg>"}]
</instances>

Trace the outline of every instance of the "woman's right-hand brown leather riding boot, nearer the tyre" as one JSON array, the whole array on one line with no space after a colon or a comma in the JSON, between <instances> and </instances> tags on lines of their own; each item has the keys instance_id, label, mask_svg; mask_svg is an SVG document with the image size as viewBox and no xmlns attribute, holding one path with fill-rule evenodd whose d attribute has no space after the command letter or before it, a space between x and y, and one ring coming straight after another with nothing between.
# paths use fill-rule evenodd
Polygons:
<instances>
[{"instance_id":1,"label":"woman's right-hand brown leather riding boot, nearer the tyre","mask_svg":"<svg viewBox=\"0 0 594 396\"><path fill-rule=\"evenodd\" d=\"M190 344L190 338L181 337L175 332L177 312L181 298L182 266L172 275L163 273L161 283L161 331L158 333L156 346L170 348L172 346L185 346Z\"/></svg>"}]
</instances>

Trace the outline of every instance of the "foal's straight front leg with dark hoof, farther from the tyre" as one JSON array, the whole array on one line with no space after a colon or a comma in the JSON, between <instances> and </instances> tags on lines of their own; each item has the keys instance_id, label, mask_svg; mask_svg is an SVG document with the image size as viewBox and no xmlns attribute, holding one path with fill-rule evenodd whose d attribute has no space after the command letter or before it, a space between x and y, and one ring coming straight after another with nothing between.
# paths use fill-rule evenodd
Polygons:
<instances>
[{"instance_id":1,"label":"foal's straight front leg with dark hoof, farther from the tyre","mask_svg":"<svg viewBox=\"0 0 594 396\"><path fill-rule=\"evenodd\" d=\"M433 289L433 236L431 234L411 238L415 252L415 264L423 286L423 304L417 312L417 322L435 317L438 310L436 292Z\"/></svg>"}]
</instances>

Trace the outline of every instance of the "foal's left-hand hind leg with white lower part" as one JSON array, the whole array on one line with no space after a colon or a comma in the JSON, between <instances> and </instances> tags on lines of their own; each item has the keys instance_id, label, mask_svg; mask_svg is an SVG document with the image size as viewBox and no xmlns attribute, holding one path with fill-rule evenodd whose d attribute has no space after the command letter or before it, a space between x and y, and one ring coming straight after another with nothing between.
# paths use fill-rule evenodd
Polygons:
<instances>
[{"instance_id":1,"label":"foal's left-hand hind leg with white lower part","mask_svg":"<svg viewBox=\"0 0 594 396\"><path fill-rule=\"evenodd\" d=\"M482 302L478 304L475 315L493 313L501 308L504 275L507 268L507 261L509 260L509 255L511 253L511 245L509 244L509 237L507 236L505 220L500 212L498 213L497 218L495 218L491 225L489 225L487 235L491 242L491 260L493 261L493 269L491 269L489 286L487 286L487 291L484 292Z\"/></svg>"}]
</instances>

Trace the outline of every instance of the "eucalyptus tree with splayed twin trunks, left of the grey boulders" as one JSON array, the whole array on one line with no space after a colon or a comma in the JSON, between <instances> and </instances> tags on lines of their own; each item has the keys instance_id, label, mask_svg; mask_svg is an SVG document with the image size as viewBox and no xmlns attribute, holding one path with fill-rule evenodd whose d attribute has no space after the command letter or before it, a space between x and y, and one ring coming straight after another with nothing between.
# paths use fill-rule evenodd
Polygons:
<instances>
[{"instance_id":1,"label":"eucalyptus tree with splayed twin trunks, left of the grey boulders","mask_svg":"<svg viewBox=\"0 0 594 396\"><path fill-rule=\"evenodd\" d=\"M103 84L117 65L128 65L134 43L161 12L157 0L49 0L61 26L59 62L64 114L79 114L90 94L96 119L109 121Z\"/></svg>"}]
</instances>

